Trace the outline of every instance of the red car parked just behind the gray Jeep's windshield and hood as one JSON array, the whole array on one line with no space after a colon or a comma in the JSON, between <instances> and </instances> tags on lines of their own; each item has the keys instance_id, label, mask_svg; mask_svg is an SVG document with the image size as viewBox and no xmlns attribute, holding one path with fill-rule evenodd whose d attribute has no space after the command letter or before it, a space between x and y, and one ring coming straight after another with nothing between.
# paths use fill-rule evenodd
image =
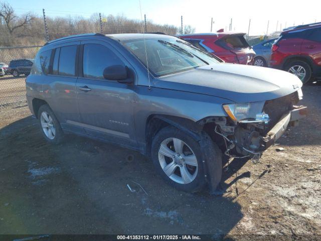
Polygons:
<instances>
[{"instance_id":1,"label":"red car parked just behind the gray Jeep's windshield and hood","mask_svg":"<svg viewBox=\"0 0 321 241\"><path fill-rule=\"evenodd\" d=\"M187 34L179 37L200 49L220 57L225 62L252 65L255 52L244 38L244 35L245 33L217 32Z\"/></svg>"}]
</instances>

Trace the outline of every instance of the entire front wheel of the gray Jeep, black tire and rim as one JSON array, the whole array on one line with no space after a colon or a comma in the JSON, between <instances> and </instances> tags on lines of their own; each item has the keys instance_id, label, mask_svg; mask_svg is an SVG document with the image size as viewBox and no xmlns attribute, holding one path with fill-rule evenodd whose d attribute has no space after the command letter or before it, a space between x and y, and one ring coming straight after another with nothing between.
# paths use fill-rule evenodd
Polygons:
<instances>
[{"instance_id":1,"label":"entire front wheel of the gray Jeep, black tire and rim","mask_svg":"<svg viewBox=\"0 0 321 241\"><path fill-rule=\"evenodd\" d=\"M181 141L183 151L178 152L185 155L177 155L174 140L176 143ZM162 153L169 155L166 156ZM173 154L176 155L175 158L173 158ZM196 159L193 158L193 155ZM189 159L187 159L188 157ZM158 174L171 186L186 192L197 192L204 188L206 181L201 147L185 132L174 127L166 127L159 131L152 141L151 158ZM190 161L193 165L188 165L187 161ZM172 173L171 175L166 174L163 170L167 167L170 167L167 170L169 174Z\"/></svg>"}]
</instances>

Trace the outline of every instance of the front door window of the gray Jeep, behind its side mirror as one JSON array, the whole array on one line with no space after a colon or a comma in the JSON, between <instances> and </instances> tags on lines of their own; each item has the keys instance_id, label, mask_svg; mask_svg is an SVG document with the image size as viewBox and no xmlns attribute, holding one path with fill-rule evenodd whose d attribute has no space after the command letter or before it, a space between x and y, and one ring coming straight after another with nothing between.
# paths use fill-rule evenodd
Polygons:
<instances>
[{"instance_id":1,"label":"front door window of the gray Jeep, behind its side mirror","mask_svg":"<svg viewBox=\"0 0 321 241\"><path fill-rule=\"evenodd\" d=\"M107 47L99 44L85 44L83 73L86 78L104 79L104 69L111 65L123 65L121 60Z\"/></svg>"}]
</instances>

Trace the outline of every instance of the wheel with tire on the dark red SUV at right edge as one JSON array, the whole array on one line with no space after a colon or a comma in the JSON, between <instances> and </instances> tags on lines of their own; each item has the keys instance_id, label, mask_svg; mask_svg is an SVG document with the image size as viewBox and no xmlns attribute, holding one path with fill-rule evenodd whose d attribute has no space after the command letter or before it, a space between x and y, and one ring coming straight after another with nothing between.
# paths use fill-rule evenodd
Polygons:
<instances>
[{"instance_id":1,"label":"wheel with tire on the dark red SUV at right edge","mask_svg":"<svg viewBox=\"0 0 321 241\"><path fill-rule=\"evenodd\" d=\"M311 67L304 61L297 60L288 63L285 66L285 71L296 75L303 84L306 84L312 75ZM304 72L304 77L302 73Z\"/></svg>"}]
</instances>

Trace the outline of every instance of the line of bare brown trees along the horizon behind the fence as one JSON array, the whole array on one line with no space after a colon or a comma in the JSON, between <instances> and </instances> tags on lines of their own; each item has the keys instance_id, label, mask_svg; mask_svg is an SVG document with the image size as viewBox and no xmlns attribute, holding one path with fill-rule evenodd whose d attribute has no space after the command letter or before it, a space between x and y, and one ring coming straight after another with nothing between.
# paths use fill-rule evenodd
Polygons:
<instances>
[{"instance_id":1,"label":"line of bare brown trees along the horizon behind the fence","mask_svg":"<svg viewBox=\"0 0 321 241\"><path fill-rule=\"evenodd\" d=\"M102 23L103 34L142 33L144 23L128 19L125 16L103 16L107 22ZM100 33L99 15L84 17L46 17L49 40L74 34ZM163 32L170 35L179 34L181 29L174 25L159 25L147 21L147 32ZM185 26L185 33L194 33L195 28ZM43 45L46 42L43 16L33 13L16 15L14 9L5 2L0 2L0 46Z\"/></svg>"}]
</instances>

